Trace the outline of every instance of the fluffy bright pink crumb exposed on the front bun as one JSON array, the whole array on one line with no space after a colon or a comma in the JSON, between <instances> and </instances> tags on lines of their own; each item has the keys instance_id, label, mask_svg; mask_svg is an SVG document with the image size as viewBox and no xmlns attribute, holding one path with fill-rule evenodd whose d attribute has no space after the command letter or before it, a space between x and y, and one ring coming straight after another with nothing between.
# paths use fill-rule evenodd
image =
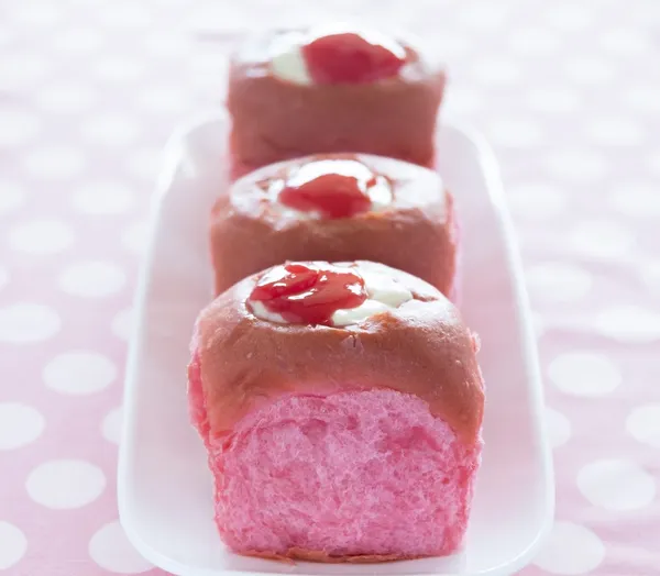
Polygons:
<instances>
[{"instance_id":1,"label":"fluffy bright pink crumb exposed on the front bun","mask_svg":"<svg viewBox=\"0 0 660 576\"><path fill-rule=\"evenodd\" d=\"M460 443L419 398L285 396L213 439L196 380L191 417L209 448L216 521L235 552L410 557L460 546L481 441Z\"/></svg>"}]
</instances>

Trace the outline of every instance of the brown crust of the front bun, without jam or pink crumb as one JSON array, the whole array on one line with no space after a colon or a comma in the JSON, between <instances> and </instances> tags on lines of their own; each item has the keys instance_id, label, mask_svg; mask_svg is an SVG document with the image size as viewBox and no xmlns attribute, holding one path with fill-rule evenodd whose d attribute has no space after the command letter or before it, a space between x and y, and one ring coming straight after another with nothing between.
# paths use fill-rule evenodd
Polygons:
<instances>
[{"instance_id":1,"label":"brown crust of the front bun, without jam or pink crumb","mask_svg":"<svg viewBox=\"0 0 660 576\"><path fill-rule=\"evenodd\" d=\"M429 284L384 265L360 265L391 275L414 299L342 329L277 324L246 308L256 274L201 311L190 370L199 370L199 425L209 439L231 434L242 418L283 395L392 389L427 402L464 444L477 441L484 389L475 335Z\"/></svg>"}]
</instances>

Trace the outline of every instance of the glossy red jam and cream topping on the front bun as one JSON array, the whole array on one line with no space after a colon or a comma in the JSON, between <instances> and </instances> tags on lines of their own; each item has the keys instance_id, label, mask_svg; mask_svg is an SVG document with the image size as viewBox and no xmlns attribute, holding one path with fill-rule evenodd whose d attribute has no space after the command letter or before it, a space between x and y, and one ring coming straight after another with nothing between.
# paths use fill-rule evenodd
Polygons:
<instances>
[{"instance_id":1,"label":"glossy red jam and cream topping on the front bun","mask_svg":"<svg viewBox=\"0 0 660 576\"><path fill-rule=\"evenodd\" d=\"M262 302L292 324L332 325L334 312L356 308L366 298L364 280L351 268L290 263L262 276L249 301Z\"/></svg>"}]
</instances>

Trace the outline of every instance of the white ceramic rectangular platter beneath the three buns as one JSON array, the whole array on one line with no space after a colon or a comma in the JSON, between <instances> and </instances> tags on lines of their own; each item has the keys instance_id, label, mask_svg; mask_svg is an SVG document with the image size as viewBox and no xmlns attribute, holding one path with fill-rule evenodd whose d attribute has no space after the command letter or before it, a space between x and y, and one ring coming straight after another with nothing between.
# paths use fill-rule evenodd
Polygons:
<instances>
[{"instance_id":1,"label":"white ceramic rectangular platter beneath the three buns","mask_svg":"<svg viewBox=\"0 0 660 576\"><path fill-rule=\"evenodd\" d=\"M372 565L285 564L221 544L206 453L188 423L193 323L210 299L208 211L222 193L227 121L206 119L166 147L136 296L119 465L122 525L153 564L180 576L509 575L528 564L553 514L542 389L520 263L497 166L484 141L446 124L440 171L462 221L461 308L482 340L487 386L483 465L461 553Z\"/></svg>"}]
</instances>

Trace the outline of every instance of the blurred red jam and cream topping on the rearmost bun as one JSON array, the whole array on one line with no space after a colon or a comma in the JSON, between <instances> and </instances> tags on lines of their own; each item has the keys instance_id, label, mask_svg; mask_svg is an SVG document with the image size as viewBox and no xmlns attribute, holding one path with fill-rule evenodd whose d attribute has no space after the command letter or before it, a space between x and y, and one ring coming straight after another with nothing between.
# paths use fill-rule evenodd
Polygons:
<instances>
[{"instance_id":1,"label":"blurred red jam and cream topping on the rearmost bun","mask_svg":"<svg viewBox=\"0 0 660 576\"><path fill-rule=\"evenodd\" d=\"M373 82L396 76L406 51L381 35L328 34L302 46L309 76L316 84Z\"/></svg>"}]
</instances>

